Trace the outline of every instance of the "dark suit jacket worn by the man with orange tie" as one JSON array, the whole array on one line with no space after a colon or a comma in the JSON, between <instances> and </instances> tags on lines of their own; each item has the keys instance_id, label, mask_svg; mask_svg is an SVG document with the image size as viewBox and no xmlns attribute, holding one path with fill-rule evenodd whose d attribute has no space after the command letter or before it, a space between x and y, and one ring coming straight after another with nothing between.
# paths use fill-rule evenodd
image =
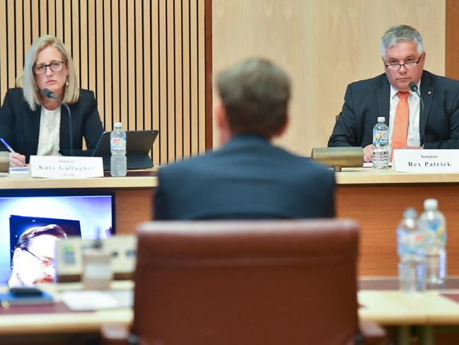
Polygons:
<instances>
[{"instance_id":1,"label":"dark suit jacket worn by the man with orange tie","mask_svg":"<svg viewBox=\"0 0 459 345\"><path fill-rule=\"evenodd\" d=\"M421 96L421 145L425 149L459 149L459 81L424 71ZM384 116L389 124L389 98L390 84L385 74L349 84L328 146L370 145L378 116Z\"/></svg>"}]
</instances>

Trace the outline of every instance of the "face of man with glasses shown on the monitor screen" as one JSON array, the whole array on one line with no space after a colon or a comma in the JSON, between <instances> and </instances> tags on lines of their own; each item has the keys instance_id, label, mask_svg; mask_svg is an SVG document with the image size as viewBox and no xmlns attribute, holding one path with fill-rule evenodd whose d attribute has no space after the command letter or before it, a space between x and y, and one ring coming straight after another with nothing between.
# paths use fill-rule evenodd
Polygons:
<instances>
[{"instance_id":1,"label":"face of man with glasses shown on the monitor screen","mask_svg":"<svg viewBox=\"0 0 459 345\"><path fill-rule=\"evenodd\" d=\"M54 256L57 237L42 234L34 237L28 249L16 248L10 287L53 283L56 281Z\"/></svg>"}]
</instances>

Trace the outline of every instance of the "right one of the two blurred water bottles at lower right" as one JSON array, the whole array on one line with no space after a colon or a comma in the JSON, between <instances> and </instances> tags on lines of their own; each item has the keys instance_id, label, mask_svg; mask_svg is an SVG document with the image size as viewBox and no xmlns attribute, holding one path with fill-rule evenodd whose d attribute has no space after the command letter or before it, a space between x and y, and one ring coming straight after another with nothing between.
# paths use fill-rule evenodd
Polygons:
<instances>
[{"instance_id":1,"label":"right one of the two blurred water bottles at lower right","mask_svg":"<svg viewBox=\"0 0 459 345\"><path fill-rule=\"evenodd\" d=\"M446 220L436 199L424 200L419 222L429 234L427 247L427 283L440 285L446 279Z\"/></svg>"}]
</instances>

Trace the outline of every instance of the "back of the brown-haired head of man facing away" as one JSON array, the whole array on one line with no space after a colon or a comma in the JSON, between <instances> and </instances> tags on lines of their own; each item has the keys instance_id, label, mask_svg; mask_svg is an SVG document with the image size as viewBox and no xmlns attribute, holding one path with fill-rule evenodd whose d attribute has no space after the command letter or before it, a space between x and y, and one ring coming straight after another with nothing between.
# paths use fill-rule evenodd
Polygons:
<instances>
[{"instance_id":1,"label":"back of the brown-haired head of man facing away","mask_svg":"<svg viewBox=\"0 0 459 345\"><path fill-rule=\"evenodd\" d=\"M240 62L216 79L233 134L272 137L286 124L290 81L277 65L261 58Z\"/></svg>"}]
</instances>

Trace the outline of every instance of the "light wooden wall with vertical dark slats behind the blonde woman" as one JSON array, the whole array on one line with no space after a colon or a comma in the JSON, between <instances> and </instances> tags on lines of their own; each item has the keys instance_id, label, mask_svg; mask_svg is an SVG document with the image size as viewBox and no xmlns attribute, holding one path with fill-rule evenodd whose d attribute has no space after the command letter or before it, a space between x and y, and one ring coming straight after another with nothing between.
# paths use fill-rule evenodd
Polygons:
<instances>
[{"instance_id":1,"label":"light wooden wall with vertical dark slats behind the blonde woman","mask_svg":"<svg viewBox=\"0 0 459 345\"><path fill-rule=\"evenodd\" d=\"M1 101L46 33L71 52L105 130L159 130L154 164L204 152L204 0L0 0Z\"/></svg>"}]
</instances>

